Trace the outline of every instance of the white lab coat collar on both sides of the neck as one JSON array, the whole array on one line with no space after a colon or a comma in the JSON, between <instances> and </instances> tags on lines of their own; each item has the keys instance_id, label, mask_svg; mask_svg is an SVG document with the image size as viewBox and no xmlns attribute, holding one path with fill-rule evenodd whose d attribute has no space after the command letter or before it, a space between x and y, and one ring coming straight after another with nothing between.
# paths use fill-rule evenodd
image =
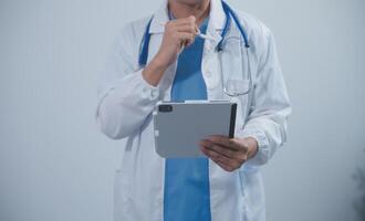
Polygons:
<instances>
[{"instance_id":1,"label":"white lab coat collar on both sides of the neck","mask_svg":"<svg viewBox=\"0 0 365 221\"><path fill-rule=\"evenodd\" d=\"M168 19L168 0L163 0L159 9L155 12L150 23L149 33L164 33L164 25ZM207 34L211 35L216 40L211 44L207 44L212 48L218 44L221 36L218 33L225 25L226 14L221 4L221 0L210 0L209 22L207 28Z\"/></svg>"}]
</instances>

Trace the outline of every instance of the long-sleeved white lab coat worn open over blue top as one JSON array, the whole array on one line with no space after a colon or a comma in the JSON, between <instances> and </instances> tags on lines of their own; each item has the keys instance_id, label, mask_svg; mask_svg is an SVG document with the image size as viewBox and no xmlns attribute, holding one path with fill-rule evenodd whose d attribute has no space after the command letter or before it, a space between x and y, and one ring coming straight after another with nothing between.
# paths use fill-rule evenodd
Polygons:
<instances>
[{"instance_id":1,"label":"long-sleeved white lab coat worn open over blue top","mask_svg":"<svg viewBox=\"0 0 365 221\"><path fill-rule=\"evenodd\" d=\"M164 35L160 22L168 21L167 1L155 13L150 24L148 61L159 49ZM234 10L234 9L233 9ZM241 168L228 172L209 159L210 210L212 221L264 221L264 190L260 167L268 162L286 140L286 119L291 104L286 93L270 30L258 19L234 10L250 41L253 90L249 95L229 97L221 87L219 62L215 46L220 40L225 13L220 0L211 0L201 71L208 99L232 99L238 103L236 137L252 136L259 151ZM176 62L164 73L157 86L148 84L138 66L140 42L150 17L125 25L112 46L105 71L100 75L95 120L112 139L127 138L124 157L115 173L114 218L117 221L161 221L164 209L165 159L155 151L152 113L155 104L170 101ZM240 33L232 22L230 35ZM231 69L241 57L238 44L229 45ZM244 57L241 57L242 60ZM147 61L147 62L148 62ZM231 73L240 81L240 73ZM236 75L234 75L236 74ZM246 113L250 99L250 112Z\"/></svg>"}]
</instances>

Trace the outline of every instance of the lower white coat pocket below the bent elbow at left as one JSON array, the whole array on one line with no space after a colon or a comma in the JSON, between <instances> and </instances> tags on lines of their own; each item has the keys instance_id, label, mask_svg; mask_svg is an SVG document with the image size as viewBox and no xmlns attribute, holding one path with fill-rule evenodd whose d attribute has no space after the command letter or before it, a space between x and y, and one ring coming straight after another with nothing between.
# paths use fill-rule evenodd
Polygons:
<instances>
[{"instance_id":1,"label":"lower white coat pocket below the bent elbow at left","mask_svg":"<svg viewBox=\"0 0 365 221\"><path fill-rule=\"evenodd\" d=\"M127 201L127 182L121 169L114 173L114 221L125 220Z\"/></svg>"}]
</instances>

